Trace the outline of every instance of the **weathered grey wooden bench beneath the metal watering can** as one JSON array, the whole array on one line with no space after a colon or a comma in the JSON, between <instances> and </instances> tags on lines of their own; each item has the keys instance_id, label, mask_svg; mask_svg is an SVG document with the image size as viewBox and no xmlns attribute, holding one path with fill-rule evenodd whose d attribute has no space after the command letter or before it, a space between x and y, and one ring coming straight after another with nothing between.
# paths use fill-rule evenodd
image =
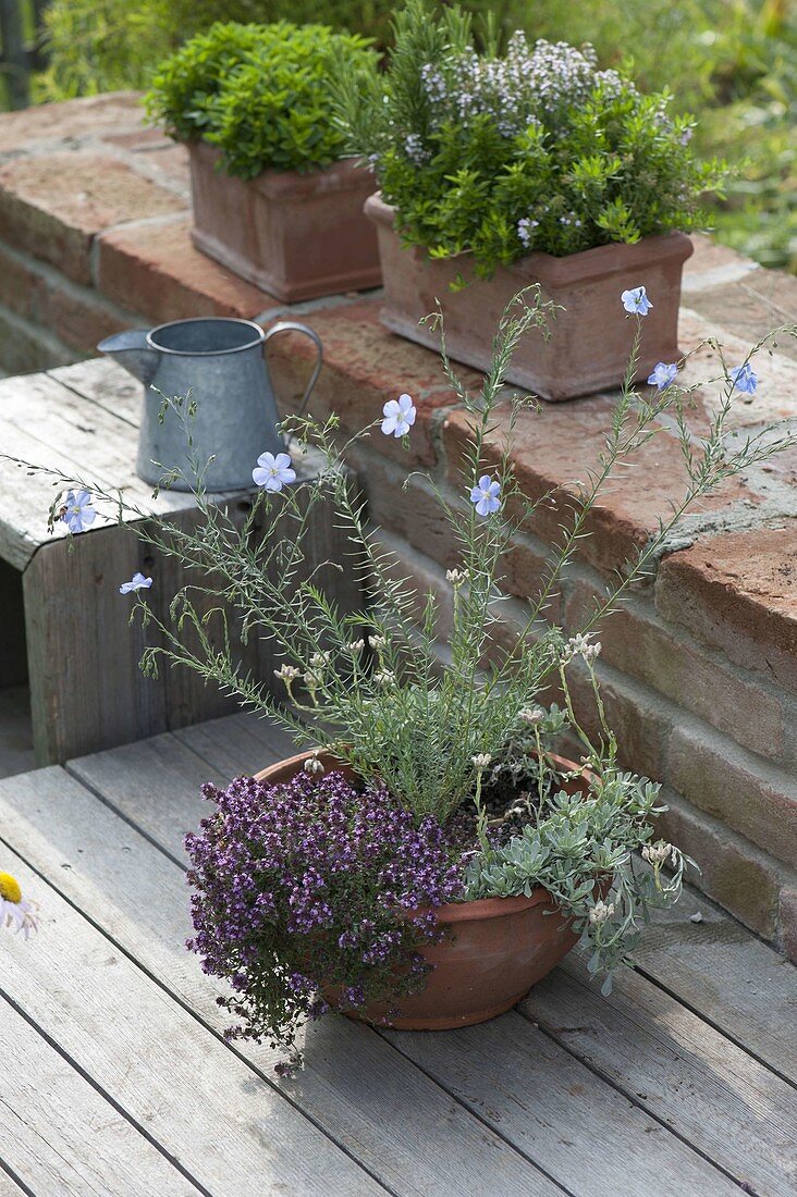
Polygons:
<instances>
[{"instance_id":1,"label":"weathered grey wooden bench beneath the metal watering can","mask_svg":"<svg viewBox=\"0 0 797 1197\"><path fill-rule=\"evenodd\" d=\"M191 523L191 496L151 487L135 475L140 383L97 359L0 381L0 454L121 490L145 511L168 511ZM253 461L256 457L253 446ZM300 478L313 463L297 463ZM0 461L0 687L28 680L38 764L140 740L169 728L229 712L234 704L185 669L153 683L139 660L145 644L129 626L131 602L119 585L140 570L153 572L155 613L168 606L187 577L171 560L147 555L127 525L95 524L72 541L66 527L48 533L55 497L50 478ZM250 497L233 497L243 516ZM328 509L313 514L308 553L318 563L344 558L346 541ZM354 577L336 572L336 597L357 602ZM266 682L273 652L252 638L241 661Z\"/></svg>"}]
</instances>

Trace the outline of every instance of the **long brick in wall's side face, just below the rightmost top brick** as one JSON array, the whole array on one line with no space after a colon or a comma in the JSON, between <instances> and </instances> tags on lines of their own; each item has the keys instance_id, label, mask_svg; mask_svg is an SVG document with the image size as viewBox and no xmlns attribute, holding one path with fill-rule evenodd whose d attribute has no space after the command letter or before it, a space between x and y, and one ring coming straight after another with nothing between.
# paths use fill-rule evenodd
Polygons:
<instances>
[{"instance_id":1,"label":"long brick in wall's side face, just below the rightmost top brick","mask_svg":"<svg viewBox=\"0 0 797 1197\"><path fill-rule=\"evenodd\" d=\"M578 583L567 600L567 624L578 632L603 598ZM777 698L706 656L705 649L653 620L644 604L623 603L598 628L602 658L693 711L719 731L763 757L784 751L784 713Z\"/></svg>"}]
</instances>

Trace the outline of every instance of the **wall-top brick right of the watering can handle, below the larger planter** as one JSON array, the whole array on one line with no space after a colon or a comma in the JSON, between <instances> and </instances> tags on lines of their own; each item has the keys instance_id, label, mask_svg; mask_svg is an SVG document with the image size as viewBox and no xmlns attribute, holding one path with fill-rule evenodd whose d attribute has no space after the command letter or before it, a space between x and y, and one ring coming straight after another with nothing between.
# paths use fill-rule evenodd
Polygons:
<instances>
[{"instance_id":1,"label":"wall-top brick right of the watering can handle, below the larger planter","mask_svg":"<svg viewBox=\"0 0 797 1197\"><path fill-rule=\"evenodd\" d=\"M412 395L418 412L409 452L404 451L400 440L384 437L379 429L373 431L370 444L407 468L434 462L440 413L457 402L437 356L388 333L379 322L378 299L319 309L301 320L310 324L324 342L324 373L310 411L320 417L337 412L346 431L358 431L381 418L388 399L406 391ZM270 346L268 357L274 377L280 381L280 393L290 394L295 402L304 388L314 357L313 346L303 336L280 336L273 342L273 350ZM463 367L460 373L467 387L481 385L477 371Z\"/></svg>"}]
</instances>

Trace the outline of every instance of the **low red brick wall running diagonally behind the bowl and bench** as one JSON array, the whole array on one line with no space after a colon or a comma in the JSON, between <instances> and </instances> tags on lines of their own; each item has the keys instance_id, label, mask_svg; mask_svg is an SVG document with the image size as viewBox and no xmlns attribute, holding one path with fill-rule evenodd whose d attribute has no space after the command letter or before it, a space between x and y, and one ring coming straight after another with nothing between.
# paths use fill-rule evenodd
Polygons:
<instances>
[{"instance_id":1,"label":"low red brick wall running diagonally behind the bowl and bench","mask_svg":"<svg viewBox=\"0 0 797 1197\"><path fill-rule=\"evenodd\" d=\"M188 230L185 156L141 127L135 96L0 117L0 370L73 360L132 323L204 314L271 322L285 310L198 254ZM457 561L455 546L430 487L421 479L405 485L409 467L428 467L457 498L465 420L435 356L382 329L375 296L292 312L325 344L316 413L336 409L355 430L400 390L416 399L411 454L374 437L356 466L386 542L445 609L445 569ZM797 279L696 238L684 279L684 350L714 335L732 358L796 316ZM700 354L701 373L711 369L710 352ZM309 370L308 346L282 339L270 354L289 408ZM795 344L781 342L759 373L759 393L735 415L742 436L775 415L797 415ZM463 375L477 384L473 371ZM711 394L695 396L696 427L712 402ZM610 406L608 396L594 396L547 406L520 423L518 478L532 497L554 488L556 509L517 537L507 563L514 597L502 610L509 624L523 619L568 484L594 462ZM664 832L700 863L696 883L797 959L796 482L791 454L693 515L656 576L604 626L600 673L623 759L664 783L671 807ZM682 487L677 445L664 430L594 512L553 613L578 626Z\"/></svg>"}]
</instances>

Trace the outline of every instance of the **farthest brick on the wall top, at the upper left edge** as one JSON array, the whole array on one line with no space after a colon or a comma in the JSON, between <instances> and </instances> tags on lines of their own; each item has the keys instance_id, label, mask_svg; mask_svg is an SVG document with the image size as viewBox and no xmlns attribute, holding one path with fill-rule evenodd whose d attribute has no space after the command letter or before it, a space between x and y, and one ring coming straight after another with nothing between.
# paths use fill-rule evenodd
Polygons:
<instances>
[{"instance_id":1,"label":"farthest brick on the wall top, at the upper left edge","mask_svg":"<svg viewBox=\"0 0 797 1197\"><path fill-rule=\"evenodd\" d=\"M140 129L141 96L135 91L107 92L58 104L36 104L18 113L0 113L0 154L19 153L42 141L93 138L105 130Z\"/></svg>"}]
</instances>

